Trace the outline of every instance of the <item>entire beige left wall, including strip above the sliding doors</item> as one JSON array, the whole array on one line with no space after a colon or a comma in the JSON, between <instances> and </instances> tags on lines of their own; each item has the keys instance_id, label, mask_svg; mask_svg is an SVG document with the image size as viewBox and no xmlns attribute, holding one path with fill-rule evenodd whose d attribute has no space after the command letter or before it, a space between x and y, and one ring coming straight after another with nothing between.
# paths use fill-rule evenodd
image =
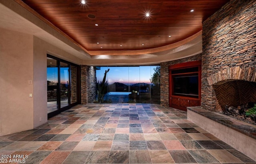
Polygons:
<instances>
[{"instance_id":1,"label":"entire beige left wall, including strip above the sliding doors","mask_svg":"<svg viewBox=\"0 0 256 164\"><path fill-rule=\"evenodd\" d=\"M0 28L0 136L47 123L47 54L81 62L38 37Z\"/></svg>"}]
</instances>

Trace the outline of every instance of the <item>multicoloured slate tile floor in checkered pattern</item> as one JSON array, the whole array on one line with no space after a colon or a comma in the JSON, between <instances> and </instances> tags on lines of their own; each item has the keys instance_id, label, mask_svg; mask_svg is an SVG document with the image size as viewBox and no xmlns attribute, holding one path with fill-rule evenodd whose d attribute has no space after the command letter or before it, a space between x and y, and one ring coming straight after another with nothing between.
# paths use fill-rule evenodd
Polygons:
<instances>
[{"instance_id":1,"label":"multicoloured slate tile floor in checkered pattern","mask_svg":"<svg viewBox=\"0 0 256 164\"><path fill-rule=\"evenodd\" d=\"M254 163L186 119L155 104L78 105L29 131L0 137L0 163Z\"/></svg>"}]
</instances>

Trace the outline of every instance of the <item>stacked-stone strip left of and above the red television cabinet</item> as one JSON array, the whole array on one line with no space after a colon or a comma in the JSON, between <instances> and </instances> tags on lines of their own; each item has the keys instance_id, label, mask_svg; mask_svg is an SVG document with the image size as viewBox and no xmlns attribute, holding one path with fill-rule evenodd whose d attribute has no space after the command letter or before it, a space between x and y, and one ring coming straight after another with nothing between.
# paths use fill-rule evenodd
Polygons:
<instances>
[{"instance_id":1,"label":"stacked-stone strip left of and above the red television cabinet","mask_svg":"<svg viewBox=\"0 0 256 164\"><path fill-rule=\"evenodd\" d=\"M160 103L164 107L169 107L169 69L168 66L173 64L179 64L183 62L199 61L201 60L201 54L187 57L184 59L178 59L175 61L168 61L160 63Z\"/></svg>"}]
</instances>

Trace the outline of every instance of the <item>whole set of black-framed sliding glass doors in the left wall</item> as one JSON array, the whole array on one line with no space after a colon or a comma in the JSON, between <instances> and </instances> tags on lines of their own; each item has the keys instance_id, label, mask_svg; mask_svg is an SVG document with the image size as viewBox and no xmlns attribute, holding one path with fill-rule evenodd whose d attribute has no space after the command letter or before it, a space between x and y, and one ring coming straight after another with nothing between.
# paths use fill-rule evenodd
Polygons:
<instances>
[{"instance_id":1,"label":"whole set of black-framed sliding glass doors in the left wall","mask_svg":"<svg viewBox=\"0 0 256 164\"><path fill-rule=\"evenodd\" d=\"M48 117L79 103L79 70L76 64L47 55Z\"/></svg>"}]
</instances>

